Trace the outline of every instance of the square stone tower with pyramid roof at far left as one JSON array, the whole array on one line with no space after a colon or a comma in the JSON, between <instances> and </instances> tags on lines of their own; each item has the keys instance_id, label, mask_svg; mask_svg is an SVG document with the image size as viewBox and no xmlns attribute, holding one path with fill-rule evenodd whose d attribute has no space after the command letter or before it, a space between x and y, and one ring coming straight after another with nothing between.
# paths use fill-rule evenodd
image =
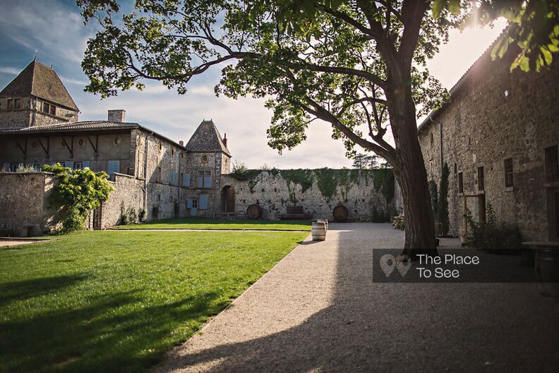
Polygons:
<instances>
[{"instance_id":1,"label":"square stone tower with pyramid roof at far left","mask_svg":"<svg viewBox=\"0 0 559 373\"><path fill-rule=\"evenodd\" d=\"M36 60L0 91L0 129L76 122L78 114L56 72Z\"/></svg>"}]
</instances>

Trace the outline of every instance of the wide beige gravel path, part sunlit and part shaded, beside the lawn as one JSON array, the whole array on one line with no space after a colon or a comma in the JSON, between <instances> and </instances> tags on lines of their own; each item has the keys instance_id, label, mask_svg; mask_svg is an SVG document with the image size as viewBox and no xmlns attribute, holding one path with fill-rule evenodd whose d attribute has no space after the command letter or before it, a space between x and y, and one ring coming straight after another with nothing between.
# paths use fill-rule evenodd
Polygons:
<instances>
[{"instance_id":1,"label":"wide beige gravel path, part sunlit and part shaded, beside the lawn","mask_svg":"<svg viewBox=\"0 0 559 373\"><path fill-rule=\"evenodd\" d=\"M154 371L557 372L557 299L534 283L373 282L372 249L403 242L388 224L331 224Z\"/></svg>"}]
</instances>

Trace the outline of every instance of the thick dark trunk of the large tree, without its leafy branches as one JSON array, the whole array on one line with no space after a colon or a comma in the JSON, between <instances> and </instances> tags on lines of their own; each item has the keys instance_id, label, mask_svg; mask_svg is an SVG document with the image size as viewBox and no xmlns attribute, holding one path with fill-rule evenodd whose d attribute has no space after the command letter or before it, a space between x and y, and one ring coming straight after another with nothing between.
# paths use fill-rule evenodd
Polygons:
<instances>
[{"instance_id":1,"label":"thick dark trunk of the large tree, without its leafy branches","mask_svg":"<svg viewBox=\"0 0 559 373\"><path fill-rule=\"evenodd\" d=\"M398 163L395 176L404 199L406 223L402 255L411 260L416 260L418 254L438 256L427 172L419 146L416 111L409 85L400 86L391 98L391 102L396 104L390 112Z\"/></svg>"}]
</instances>

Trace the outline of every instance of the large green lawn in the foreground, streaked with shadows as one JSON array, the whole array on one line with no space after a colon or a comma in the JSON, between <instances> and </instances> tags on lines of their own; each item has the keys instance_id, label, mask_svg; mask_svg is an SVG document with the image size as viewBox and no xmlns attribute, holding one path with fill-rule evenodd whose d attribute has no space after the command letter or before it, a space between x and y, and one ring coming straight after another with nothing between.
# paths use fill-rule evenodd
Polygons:
<instances>
[{"instance_id":1,"label":"large green lawn in the foreground, streaked with shadows","mask_svg":"<svg viewBox=\"0 0 559 373\"><path fill-rule=\"evenodd\" d=\"M304 232L78 232L0 249L0 372L138 372Z\"/></svg>"}]
</instances>

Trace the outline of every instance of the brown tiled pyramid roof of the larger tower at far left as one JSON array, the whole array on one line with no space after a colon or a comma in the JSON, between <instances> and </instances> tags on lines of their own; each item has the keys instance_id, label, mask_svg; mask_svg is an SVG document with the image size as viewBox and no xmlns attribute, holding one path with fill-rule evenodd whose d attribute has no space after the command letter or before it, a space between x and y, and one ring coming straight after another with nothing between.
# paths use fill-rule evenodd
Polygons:
<instances>
[{"instance_id":1,"label":"brown tiled pyramid roof of the larger tower at far left","mask_svg":"<svg viewBox=\"0 0 559 373\"><path fill-rule=\"evenodd\" d=\"M79 111L56 72L35 59L0 91L0 96L28 95Z\"/></svg>"}]
</instances>

